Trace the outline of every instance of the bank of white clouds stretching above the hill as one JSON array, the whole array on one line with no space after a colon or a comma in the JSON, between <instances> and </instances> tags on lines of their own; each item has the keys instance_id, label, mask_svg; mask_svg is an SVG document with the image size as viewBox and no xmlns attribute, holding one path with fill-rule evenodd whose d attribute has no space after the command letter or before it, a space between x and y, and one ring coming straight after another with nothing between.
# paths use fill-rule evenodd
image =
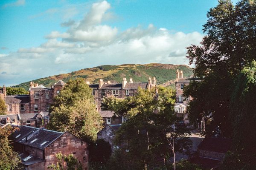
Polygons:
<instances>
[{"instance_id":1,"label":"bank of white clouds stretching above the hill","mask_svg":"<svg viewBox=\"0 0 256 170\"><path fill-rule=\"evenodd\" d=\"M188 64L186 47L199 44L203 37L198 32L174 33L153 24L120 31L103 24L110 16L110 8L107 1L93 3L80 21L60 23L67 31L52 30L40 46L0 54L0 73L6 72L0 79L14 85L98 65Z\"/></svg>"}]
</instances>

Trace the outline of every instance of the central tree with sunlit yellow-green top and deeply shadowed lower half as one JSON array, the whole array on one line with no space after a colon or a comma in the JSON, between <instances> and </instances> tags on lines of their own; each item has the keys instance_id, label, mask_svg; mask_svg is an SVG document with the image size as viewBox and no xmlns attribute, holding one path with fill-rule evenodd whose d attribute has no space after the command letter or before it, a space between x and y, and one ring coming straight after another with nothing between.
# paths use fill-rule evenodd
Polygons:
<instances>
[{"instance_id":1,"label":"central tree with sunlit yellow-green top and deeply shadowed lower half","mask_svg":"<svg viewBox=\"0 0 256 170\"><path fill-rule=\"evenodd\" d=\"M116 99L105 98L103 106L115 112L116 116L126 116L126 120L116 132L116 144L122 146L120 152L131 162L131 169L147 169L156 159L169 158L173 152L168 148L167 134L175 123L173 105L175 93L169 89L161 88L160 93L156 91L138 89L135 96ZM167 99L166 94L170 94ZM109 106L109 107L108 107ZM185 129L181 130L186 136ZM181 132L182 131L182 132ZM175 140L177 150L187 145L180 143L184 136Z\"/></svg>"}]
</instances>

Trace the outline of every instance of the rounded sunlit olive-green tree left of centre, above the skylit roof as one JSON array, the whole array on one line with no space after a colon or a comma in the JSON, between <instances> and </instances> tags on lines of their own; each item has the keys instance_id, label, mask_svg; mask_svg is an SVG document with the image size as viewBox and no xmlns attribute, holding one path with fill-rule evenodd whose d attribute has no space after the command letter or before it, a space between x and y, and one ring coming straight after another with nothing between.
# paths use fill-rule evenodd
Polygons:
<instances>
[{"instance_id":1,"label":"rounded sunlit olive-green tree left of centre, above the skylit roof","mask_svg":"<svg viewBox=\"0 0 256 170\"><path fill-rule=\"evenodd\" d=\"M70 131L93 142L102 128L102 117L96 111L91 89L83 79L70 80L53 100L48 128Z\"/></svg>"}]
</instances>

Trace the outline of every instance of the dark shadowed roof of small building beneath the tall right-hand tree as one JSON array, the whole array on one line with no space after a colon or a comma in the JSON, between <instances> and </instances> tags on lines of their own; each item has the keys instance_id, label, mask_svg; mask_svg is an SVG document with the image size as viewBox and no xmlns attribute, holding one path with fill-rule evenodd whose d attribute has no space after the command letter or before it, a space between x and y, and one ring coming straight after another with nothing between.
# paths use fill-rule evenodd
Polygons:
<instances>
[{"instance_id":1,"label":"dark shadowed roof of small building beneath the tall right-hand tree","mask_svg":"<svg viewBox=\"0 0 256 170\"><path fill-rule=\"evenodd\" d=\"M205 138L199 145L198 149L209 150L214 152L226 153L231 149L231 139L210 137Z\"/></svg>"}]
</instances>

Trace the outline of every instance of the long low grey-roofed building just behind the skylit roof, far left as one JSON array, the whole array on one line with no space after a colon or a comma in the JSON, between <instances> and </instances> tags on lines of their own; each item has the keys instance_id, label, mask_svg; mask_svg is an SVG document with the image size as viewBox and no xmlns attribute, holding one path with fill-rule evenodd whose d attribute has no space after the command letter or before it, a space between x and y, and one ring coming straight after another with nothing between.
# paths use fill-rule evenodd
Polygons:
<instances>
[{"instance_id":1,"label":"long low grey-roofed building just behind the skylit roof, far left","mask_svg":"<svg viewBox=\"0 0 256 170\"><path fill-rule=\"evenodd\" d=\"M0 115L1 124L27 125L32 127L46 127L49 121L48 112Z\"/></svg>"}]
</instances>

